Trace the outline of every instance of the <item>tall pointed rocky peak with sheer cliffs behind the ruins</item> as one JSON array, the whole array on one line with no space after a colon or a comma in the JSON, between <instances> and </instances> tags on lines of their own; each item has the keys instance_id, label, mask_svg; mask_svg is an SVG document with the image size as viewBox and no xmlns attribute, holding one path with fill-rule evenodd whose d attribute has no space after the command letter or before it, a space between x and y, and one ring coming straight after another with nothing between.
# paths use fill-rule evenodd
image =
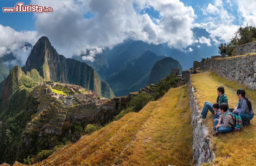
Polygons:
<instances>
[{"instance_id":1,"label":"tall pointed rocky peak with sheer cliffs behind the ruins","mask_svg":"<svg viewBox=\"0 0 256 166\"><path fill-rule=\"evenodd\" d=\"M33 68L45 81L76 84L98 94L104 94L107 98L114 97L110 87L98 77L91 66L59 55L47 37L41 37L33 46L22 70L27 72ZM105 86L102 87L102 84Z\"/></svg>"}]
</instances>

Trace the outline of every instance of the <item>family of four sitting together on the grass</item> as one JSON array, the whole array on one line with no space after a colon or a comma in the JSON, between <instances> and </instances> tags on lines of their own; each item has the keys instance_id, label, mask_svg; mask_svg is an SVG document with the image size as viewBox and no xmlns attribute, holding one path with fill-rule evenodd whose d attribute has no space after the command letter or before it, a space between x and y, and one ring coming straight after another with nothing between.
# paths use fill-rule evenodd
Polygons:
<instances>
[{"instance_id":1,"label":"family of four sitting together on the grass","mask_svg":"<svg viewBox=\"0 0 256 166\"><path fill-rule=\"evenodd\" d=\"M235 109L229 109L228 97L225 94L223 87L217 88L217 102L211 104L206 101L204 103L201 118L198 123L203 123L206 120L208 110L213 114L214 130L213 136L219 133L228 133L233 131L234 120L232 114L238 114L242 118L243 126L250 125L250 120L254 117L254 110L252 109L251 101L245 96L244 89L238 89L236 95L238 96L238 104ZM233 110L233 111L230 111ZM200 110L198 110L200 112Z\"/></svg>"}]
</instances>

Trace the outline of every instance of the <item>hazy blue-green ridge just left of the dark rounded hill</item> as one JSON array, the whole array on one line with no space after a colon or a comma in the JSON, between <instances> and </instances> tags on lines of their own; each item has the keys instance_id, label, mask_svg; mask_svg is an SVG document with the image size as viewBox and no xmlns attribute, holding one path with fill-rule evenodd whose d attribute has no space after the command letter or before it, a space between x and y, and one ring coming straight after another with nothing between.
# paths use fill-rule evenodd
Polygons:
<instances>
[{"instance_id":1,"label":"hazy blue-green ridge just left of the dark rounded hill","mask_svg":"<svg viewBox=\"0 0 256 166\"><path fill-rule=\"evenodd\" d=\"M121 70L113 73L106 81L117 96L135 92L147 85L154 63L163 58L164 56L157 56L146 50L141 55L124 62Z\"/></svg>"}]
</instances>

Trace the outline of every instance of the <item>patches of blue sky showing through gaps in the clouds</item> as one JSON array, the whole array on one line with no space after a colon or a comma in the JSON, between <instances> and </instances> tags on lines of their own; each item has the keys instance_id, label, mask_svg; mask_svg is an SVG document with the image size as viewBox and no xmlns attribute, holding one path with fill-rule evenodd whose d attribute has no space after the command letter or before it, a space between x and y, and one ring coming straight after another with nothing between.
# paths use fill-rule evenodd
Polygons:
<instances>
[{"instance_id":1,"label":"patches of blue sky showing through gaps in the clouds","mask_svg":"<svg viewBox=\"0 0 256 166\"><path fill-rule=\"evenodd\" d=\"M194 9L194 13L198 16L195 20L195 22L198 23L205 23L209 21L207 17L204 17L202 14L202 8L206 7L208 4L214 4L213 0L204 0L204 1L195 1L195 0L181 0L184 5L186 6L192 6ZM1 9L2 7L14 7L17 2L20 1L14 1L14 0L2 0L1 2ZM28 5L31 3L31 0L23 0L25 5ZM224 4L225 7L228 7L228 5ZM237 11L237 5L234 4L232 9L227 9L232 15L236 17L234 20L234 24L239 25L238 21L238 11ZM153 7L147 8L143 11L139 11L138 13L148 13L151 18L159 18L159 11L154 10ZM91 18L93 17L93 13L87 12L84 14L85 18ZM27 12L27 13L6 13L6 12L0 12L0 24L3 26L9 26L11 28L14 28L16 31L35 31L36 28L34 26L35 19L33 19L33 13ZM216 18L218 19L218 18Z\"/></svg>"}]
</instances>

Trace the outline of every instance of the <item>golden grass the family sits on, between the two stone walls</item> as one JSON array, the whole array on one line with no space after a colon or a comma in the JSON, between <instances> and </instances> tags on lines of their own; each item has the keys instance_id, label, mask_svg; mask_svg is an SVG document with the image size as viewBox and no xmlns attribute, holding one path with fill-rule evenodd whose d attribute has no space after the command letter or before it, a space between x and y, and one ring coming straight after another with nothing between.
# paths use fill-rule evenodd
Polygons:
<instances>
[{"instance_id":1,"label":"golden grass the family sits on, between the two stone walls","mask_svg":"<svg viewBox=\"0 0 256 166\"><path fill-rule=\"evenodd\" d=\"M236 82L228 81L217 76L214 72L191 74L192 85L196 89L196 98L201 106L204 101L215 103L217 99L217 88L223 86L225 94L228 96L229 107L235 107L238 98L236 90L243 88L252 101L255 109L255 90L249 90ZM213 133L213 115L208 112L206 126ZM240 132L220 134L218 137L209 135L212 141L212 148L215 153L214 165L255 165L256 163L256 127L255 120L251 120L251 125L242 127Z\"/></svg>"}]
</instances>

